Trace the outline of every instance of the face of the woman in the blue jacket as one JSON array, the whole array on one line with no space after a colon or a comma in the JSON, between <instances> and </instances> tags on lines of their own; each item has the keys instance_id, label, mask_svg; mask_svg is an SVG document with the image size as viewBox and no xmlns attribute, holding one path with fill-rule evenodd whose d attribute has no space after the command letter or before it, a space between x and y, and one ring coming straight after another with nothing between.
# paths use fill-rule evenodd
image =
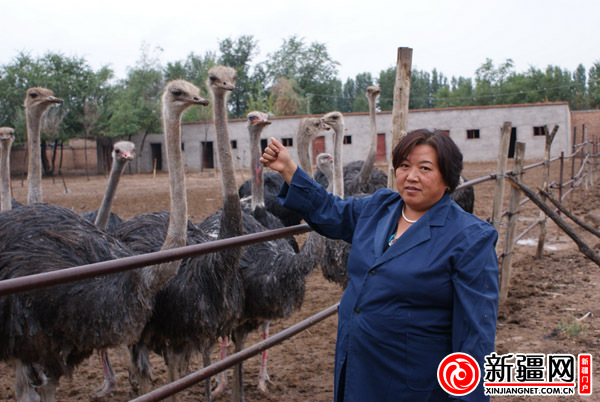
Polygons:
<instances>
[{"instance_id":1,"label":"face of the woman in the blue jacket","mask_svg":"<svg viewBox=\"0 0 600 402\"><path fill-rule=\"evenodd\" d=\"M448 188L437 162L437 152L430 145L417 145L396 169L396 185L406 206L427 211Z\"/></svg>"}]
</instances>

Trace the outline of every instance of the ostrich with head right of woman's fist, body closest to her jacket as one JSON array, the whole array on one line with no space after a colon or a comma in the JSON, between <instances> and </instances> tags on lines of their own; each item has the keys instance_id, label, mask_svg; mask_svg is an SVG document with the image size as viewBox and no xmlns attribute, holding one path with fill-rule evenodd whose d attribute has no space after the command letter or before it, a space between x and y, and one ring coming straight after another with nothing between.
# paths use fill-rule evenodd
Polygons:
<instances>
[{"instance_id":1,"label":"ostrich with head right of woman's fist, body closest to her jacket","mask_svg":"<svg viewBox=\"0 0 600 402\"><path fill-rule=\"evenodd\" d=\"M308 145L324 126L318 119L304 119L298 130L300 165L311 172ZM306 155L305 155L306 154ZM304 157L306 156L306 157ZM203 226L210 231L210 219ZM244 215L244 233L263 231L264 228ZM285 318L302 305L306 277L321 262L324 238L311 232L302 249L296 254L288 243L281 239L245 247L240 260L244 278L245 304L243 315L232 333L235 351L243 349L248 334L262 326L263 337L268 337L269 322ZM259 374L259 389L266 391L269 380L266 371L266 353L263 352ZM221 390L223 384L219 385ZM243 368L234 369L232 400L244 399Z\"/></svg>"}]
</instances>

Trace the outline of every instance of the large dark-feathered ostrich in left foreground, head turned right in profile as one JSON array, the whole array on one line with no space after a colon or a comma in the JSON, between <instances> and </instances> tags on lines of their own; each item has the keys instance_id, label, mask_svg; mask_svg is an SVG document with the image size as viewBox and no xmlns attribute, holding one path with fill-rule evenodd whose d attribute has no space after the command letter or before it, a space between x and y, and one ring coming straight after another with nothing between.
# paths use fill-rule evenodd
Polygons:
<instances>
[{"instance_id":1,"label":"large dark-feathered ostrich in left foreground, head turned right in profile","mask_svg":"<svg viewBox=\"0 0 600 402\"><path fill-rule=\"evenodd\" d=\"M198 92L169 85L170 115L206 104ZM185 245L187 205L179 120L165 121L171 215L162 249ZM32 155L33 156L33 155ZM33 159L33 158L32 158ZM131 256L130 249L66 208L37 203L0 214L0 279ZM54 401L61 376L94 350L129 344L150 318L154 295L177 273L179 261L0 298L0 359L15 364L17 400Z\"/></svg>"}]
</instances>

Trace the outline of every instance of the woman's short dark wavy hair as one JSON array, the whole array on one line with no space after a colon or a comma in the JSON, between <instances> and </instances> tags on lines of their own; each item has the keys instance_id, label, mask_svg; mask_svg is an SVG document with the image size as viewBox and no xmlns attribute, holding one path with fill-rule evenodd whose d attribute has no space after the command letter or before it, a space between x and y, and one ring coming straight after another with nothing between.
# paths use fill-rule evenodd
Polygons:
<instances>
[{"instance_id":1,"label":"woman's short dark wavy hair","mask_svg":"<svg viewBox=\"0 0 600 402\"><path fill-rule=\"evenodd\" d=\"M448 192L453 192L460 182L462 153L454 141L442 131L419 129L406 134L392 151L394 170L398 169L400 163L406 160L408 154L417 145L429 145L435 149L438 155L438 167L444 183L450 188Z\"/></svg>"}]
</instances>

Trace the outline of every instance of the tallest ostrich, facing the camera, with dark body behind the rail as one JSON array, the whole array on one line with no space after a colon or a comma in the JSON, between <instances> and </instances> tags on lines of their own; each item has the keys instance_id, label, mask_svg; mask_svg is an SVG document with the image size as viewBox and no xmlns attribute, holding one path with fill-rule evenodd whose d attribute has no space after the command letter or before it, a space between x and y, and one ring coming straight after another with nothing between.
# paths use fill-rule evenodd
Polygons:
<instances>
[{"instance_id":1,"label":"tallest ostrich, facing the camera, with dark body behind the rail","mask_svg":"<svg viewBox=\"0 0 600 402\"><path fill-rule=\"evenodd\" d=\"M235 88L235 70L225 66L211 68L207 86L213 97L223 208L212 236L194 227L188 236L190 243L242 234L242 210L226 123L226 98ZM154 223L146 223L147 217L153 217ZM160 213L132 218L119 226L117 235L136 252L148 252L154 246L147 233L153 232L152 237L164 236L163 221ZM191 223L188 225L193 227ZM192 353L206 350L219 337L231 333L243 308L240 254L241 250L234 248L185 259L178 275L157 295L152 318L132 347L132 379L139 379L143 392L150 385L150 350L163 356L172 382L187 369Z\"/></svg>"}]
</instances>

